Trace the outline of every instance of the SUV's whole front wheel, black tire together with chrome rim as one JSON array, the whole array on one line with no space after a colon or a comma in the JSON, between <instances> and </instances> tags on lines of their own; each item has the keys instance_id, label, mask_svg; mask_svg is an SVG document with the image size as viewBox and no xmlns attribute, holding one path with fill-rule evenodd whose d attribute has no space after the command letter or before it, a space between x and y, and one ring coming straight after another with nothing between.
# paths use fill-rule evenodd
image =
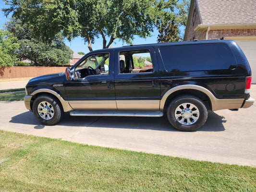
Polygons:
<instances>
[{"instance_id":1,"label":"SUV's whole front wheel, black tire together with chrome rim","mask_svg":"<svg viewBox=\"0 0 256 192\"><path fill-rule=\"evenodd\" d=\"M60 101L48 95L38 96L35 99L33 113L37 120L44 125L54 125L64 115Z\"/></svg>"}]
</instances>

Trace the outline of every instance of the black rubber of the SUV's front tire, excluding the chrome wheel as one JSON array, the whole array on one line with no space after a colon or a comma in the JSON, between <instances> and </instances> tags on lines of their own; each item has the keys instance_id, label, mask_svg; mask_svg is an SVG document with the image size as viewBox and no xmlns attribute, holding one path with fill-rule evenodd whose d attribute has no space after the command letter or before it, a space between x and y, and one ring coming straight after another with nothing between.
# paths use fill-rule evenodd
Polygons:
<instances>
[{"instance_id":1,"label":"black rubber of the SUV's front tire, excluding the chrome wheel","mask_svg":"<svg viewBox=\"0 0 256 192\"><path fill-rule=\"evenodd\" d=\"M40 117L40 115L37 112L38 105L44 101L49 102L54 109L54 115L50 120L44 120L43 118ZM34 113L36 119L45 125L56 124L57 122L59 122L61 120L62 114L63 114L60 103L51 96L38 96L35 99L35 101L33 102L33 113Z\"/></svg>"}]
</instances>

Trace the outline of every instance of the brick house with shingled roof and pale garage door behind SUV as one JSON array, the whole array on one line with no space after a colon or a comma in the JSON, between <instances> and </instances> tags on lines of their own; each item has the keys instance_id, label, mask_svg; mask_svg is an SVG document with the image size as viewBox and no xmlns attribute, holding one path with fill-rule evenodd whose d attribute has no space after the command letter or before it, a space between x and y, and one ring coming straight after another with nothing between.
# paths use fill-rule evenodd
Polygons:
<instances>
[{"instance_id":1,"label":"brick house with shingled roof and pale garage door behind SUV","mask_svg":"<svg viewBox=\"0 0 256 192\"><path fill-rule=\"evenodd\" d=\"M242 48L256 84L256 0L191 0L184 41L222 37Z\"/></svg>"}]
</instances>

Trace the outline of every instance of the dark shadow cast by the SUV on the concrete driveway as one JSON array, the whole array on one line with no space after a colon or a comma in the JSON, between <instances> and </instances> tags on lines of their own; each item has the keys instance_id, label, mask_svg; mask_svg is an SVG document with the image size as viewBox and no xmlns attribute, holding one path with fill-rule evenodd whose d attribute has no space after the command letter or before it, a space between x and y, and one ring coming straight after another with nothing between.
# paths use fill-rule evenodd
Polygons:
<instances>
[{"instance_id":1,"label":"dark shadow cast by the SUV on the concrete driveway","mask_svg":"<svg viewBox=\"0 0 256 192\"><path fill-rule=\"evenodd\" d=\"M33 113L27 111L12 117L10 123L35 125L34 129L43 129L46 125L40 124ZM223 123L225 117L208 111L208 119L204 126L198 131L203 132L222 132L225 131ZM57 126L65 127L101 127L117 129L145 129L159 130L168 132L179 132L173 128L165 117L146 118L146 117L73 117L65 113L64 118ZM51 127L51 126L49 126ZM53 126L52 126L53 127Z\"/></svg>"}]
</instances>

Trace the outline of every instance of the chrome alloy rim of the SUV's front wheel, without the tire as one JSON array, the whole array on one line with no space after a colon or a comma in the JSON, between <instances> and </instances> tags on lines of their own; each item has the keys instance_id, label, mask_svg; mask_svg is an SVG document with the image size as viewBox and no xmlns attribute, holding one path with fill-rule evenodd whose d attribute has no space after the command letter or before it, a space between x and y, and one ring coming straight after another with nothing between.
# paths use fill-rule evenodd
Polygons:
<instances>
[{"instance_id":1,"label":"chrome alloy rim of the SUV's front wheel, without the tire","mask_svg":"<svg viewBox=\"0 0 256 192\"><path fill-rule=\"evenodd\" d=\"M37 112L39 116L44 120L50 120L54 116L54 109L52 105L47 101L39 103Z\"/></svg>"}]
</instances>

